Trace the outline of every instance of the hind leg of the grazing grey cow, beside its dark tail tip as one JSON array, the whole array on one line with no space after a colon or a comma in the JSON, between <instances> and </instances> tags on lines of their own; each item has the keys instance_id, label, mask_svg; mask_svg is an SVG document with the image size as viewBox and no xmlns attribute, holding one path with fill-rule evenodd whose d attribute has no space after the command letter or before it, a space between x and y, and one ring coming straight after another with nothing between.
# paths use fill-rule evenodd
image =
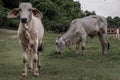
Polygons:
<instances>
[{"instance_id":1,"label":"hind leg of the grazing grey cow, beside its dark tail tip","mask_svg":"<svg viewBox=\"0 0 120 80\"><path fill-rule=\"evenodd\" d=\"M99 39L102 45L102 54L107 56L109 42L106 34L99 33Z\"/></svg>"}]
</instances>

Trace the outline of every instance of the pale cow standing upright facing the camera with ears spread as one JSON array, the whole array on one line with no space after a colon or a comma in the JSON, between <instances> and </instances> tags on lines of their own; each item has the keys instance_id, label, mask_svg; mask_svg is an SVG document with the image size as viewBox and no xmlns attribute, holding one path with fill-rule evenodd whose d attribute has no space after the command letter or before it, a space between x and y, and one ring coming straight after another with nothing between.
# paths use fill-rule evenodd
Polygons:
<instances>
[{"instance_id":1,"label":"pale cow standing upright facing the camera with ears spread","mask_svg":"<svg viewBox=\"0 0 120 80\"><path fill-rule=\"evenodd\" d=\"M20 15L20 24L18 28L18 36L22 48L23 57L23 76L27 76L27 53L30 53L30 70L33 68L34 76L39 75L38 68L39 51L42 48L42 39L44 35L44 28L41 22L42 13L32 7L31 3L20 3L19 8L11 10L7 17L16 18ZM34 65L34 66L33 66Z\"/></svg>"}]
</instances>

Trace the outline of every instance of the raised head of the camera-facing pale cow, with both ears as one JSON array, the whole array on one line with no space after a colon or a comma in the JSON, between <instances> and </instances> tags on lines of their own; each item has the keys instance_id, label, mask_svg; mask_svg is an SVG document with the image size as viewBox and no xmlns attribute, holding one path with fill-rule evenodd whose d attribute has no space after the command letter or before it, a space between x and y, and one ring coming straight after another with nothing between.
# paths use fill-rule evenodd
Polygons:
<instances>
[{"instance_id":1,"label":"raised head of the camera-facing pale cow, with both ears","mask_svg":"<svg viewBox=\"0 0 120 80\"><path fill-rule=\"evenodd\" d=\"M33 8L31 3L20 3L19 8L11 10L7 17L16 18L17 16L20 16L20 22L27 23L31 20L32 14L35 17L42 17L41 12L38 9Z\"/></svg>"}]
</instances>

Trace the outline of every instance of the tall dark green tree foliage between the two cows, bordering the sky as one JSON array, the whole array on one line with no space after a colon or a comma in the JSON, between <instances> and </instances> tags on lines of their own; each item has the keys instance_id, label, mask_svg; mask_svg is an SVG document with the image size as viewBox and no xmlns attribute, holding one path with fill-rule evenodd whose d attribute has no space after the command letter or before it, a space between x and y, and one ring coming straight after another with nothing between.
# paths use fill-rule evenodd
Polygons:
<instances>
[{"instance_id":1,"label":"tall dark green tree foliage between the two cows, bordering the sky","mask_svg":"<svg viewBox=\"0 0 120 80\"><path fill-rule=\"evenodd\" d=\"M73 0L38 0L34 5L43 13L47 30L66 31L73 19L81 17L80 3Z\"/></svg>"}]
</instances>

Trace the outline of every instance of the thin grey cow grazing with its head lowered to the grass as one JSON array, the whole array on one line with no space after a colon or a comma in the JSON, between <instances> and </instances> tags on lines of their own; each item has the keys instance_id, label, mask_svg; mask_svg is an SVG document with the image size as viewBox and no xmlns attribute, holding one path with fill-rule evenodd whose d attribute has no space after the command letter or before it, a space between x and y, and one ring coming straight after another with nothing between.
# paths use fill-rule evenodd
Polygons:
<instances>
[{"instance_id":1,"label":"thin grey cow grazing with its head lowered to the grass","mask_svg":"<svg viewBox=\"0 0 120 80\"><path fill-rule=\"evenodd\" d=\"M107 20L102 16L92 15L82 19L75 19L71 22L69 30L61 37L56 39L56 52L61 53L65 46L76 44L84 53L86 37L93 38L98 35L102 45L102 53L107 55L109 41L107 37Z\"/></svg>"}]
</instances>

